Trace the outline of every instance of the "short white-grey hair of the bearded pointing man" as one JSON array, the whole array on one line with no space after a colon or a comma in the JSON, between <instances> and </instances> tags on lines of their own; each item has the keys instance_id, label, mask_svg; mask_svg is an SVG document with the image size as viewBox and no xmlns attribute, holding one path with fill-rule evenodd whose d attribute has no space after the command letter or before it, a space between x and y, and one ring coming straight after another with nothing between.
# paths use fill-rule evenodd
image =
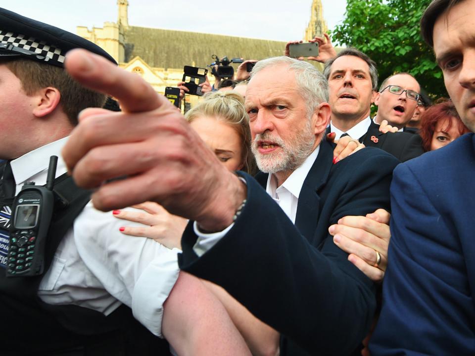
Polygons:
<instances>
[{"instance_id":1,"label":"short white-grey hair of the bearded pointing man","mask_svg":"<svg viewBox=\"0 0 475 356\"><path fill-rule=\"evenodd\" d=\"M317 106L322 102L328 102L328 83L322 73L310 63L300 61L287 56L269 57L262 59L252 68L249 82L261 70L285 64L294 71L297 90L305 100L307 116L310 117Z\"/></svg>"}]
</instances>

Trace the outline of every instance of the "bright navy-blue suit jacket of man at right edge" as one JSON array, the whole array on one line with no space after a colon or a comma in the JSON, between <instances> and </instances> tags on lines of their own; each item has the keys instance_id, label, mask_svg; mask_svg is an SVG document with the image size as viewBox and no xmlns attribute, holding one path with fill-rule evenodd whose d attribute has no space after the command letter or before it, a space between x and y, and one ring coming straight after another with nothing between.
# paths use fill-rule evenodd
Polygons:
<instances>
[{"instance_id":1,"label":"bright navy-blue suit jacket of man at right edge","mask_svg":"<svg viewBox=\"0 0 475 356\"><path fill-rule=\"evenodd\" d=\"M372 355L475 355L475 135L394 171Z\"/></svg>"}]
</instances>

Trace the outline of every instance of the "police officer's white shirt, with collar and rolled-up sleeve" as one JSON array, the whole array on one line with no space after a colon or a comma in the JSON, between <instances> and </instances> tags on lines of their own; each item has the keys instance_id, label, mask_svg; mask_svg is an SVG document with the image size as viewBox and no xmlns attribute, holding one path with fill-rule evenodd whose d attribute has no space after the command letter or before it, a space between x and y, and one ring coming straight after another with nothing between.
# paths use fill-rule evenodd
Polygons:
<instances>
[{"instance_id":1,"label":"police officer's white shirt, with collar and rolled-up sleeve","mask_svg":"<svg viewBox=\"0 0 475 356\"><path fill-rule=\"evenodd\" d=\"M66 140L11 161L17 193L25 181L46 183L51 155L58 156L56 177L66 172L61 159ZM105 315L124 303L152 333L161 335L163 303L178 278L179 250L124 235L119 231L124 225L141 226L116 219L111 212L99 212L90 202L61 241L38 295L48 304L75 304Z\"/></svg>"}]
</instances>

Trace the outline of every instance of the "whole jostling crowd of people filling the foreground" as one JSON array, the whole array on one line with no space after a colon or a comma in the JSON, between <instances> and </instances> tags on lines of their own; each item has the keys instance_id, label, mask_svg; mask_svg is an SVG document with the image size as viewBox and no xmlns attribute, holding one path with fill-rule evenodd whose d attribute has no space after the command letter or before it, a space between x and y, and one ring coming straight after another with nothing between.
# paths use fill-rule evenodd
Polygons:
<instances>
[{"instance_id":1,"label":"whole jostling crowd of people filling the foreground","mask_svg":"<svg viewBox=\"0 0 475 356\"><path fill-rule=\"evenodd\" d=\"M0 354L475 354L472 10L421 19L450 99L324 35L323 73L289 42L182 116L0 8ZM53 155L51 218L21 231Z\"/></svg>"}]
</instances>

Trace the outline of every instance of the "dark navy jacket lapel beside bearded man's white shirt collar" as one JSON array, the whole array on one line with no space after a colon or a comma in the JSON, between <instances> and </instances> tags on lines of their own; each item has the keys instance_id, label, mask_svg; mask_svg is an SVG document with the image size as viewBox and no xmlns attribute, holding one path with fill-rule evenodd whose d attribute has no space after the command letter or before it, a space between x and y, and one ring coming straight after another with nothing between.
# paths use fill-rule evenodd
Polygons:
<instances>
[{"instance_id":1,"label":"dark navy jacket lapel beside bearded man's white shirt collar","mask_svg":"<svg viewBox=\"0 0 475 356\"><path fill-rule=\"evenodd\" d=\"M303 182L298 198L295 226L308 241L312 241L320 214L319 190L328 179L332 168L333 148L330 143L322 140L320 152L310 172Z\"/></svg>"}]
</instances>

